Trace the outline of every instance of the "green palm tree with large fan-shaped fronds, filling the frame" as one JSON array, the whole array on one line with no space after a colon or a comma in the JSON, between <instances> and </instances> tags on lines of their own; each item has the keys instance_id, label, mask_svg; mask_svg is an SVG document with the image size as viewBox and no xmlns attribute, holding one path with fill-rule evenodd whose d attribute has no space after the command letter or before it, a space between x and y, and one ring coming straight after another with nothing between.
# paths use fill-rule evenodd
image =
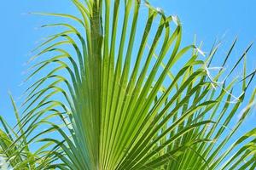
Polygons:
<instances>
[{"instance_id":1,"label":"green palm tree with large fan-shaped fronds, filling the frame","mask_svg":"<svg viewBox=\"0 0 256 170\"><path fill-rule=\"evenodd\" d=\"M68 21L43 26L60 31L35 49L17 125L2 121L10 167L255 169L256 128L232 140L255 104L254 90L241 107L255 71L230 80L251 45L226 72L233 42L212 76L218 44L207 56L182 47L177 16L140 0L72 2L80 16L35 13Z\"/></svg>"}]
</instances>

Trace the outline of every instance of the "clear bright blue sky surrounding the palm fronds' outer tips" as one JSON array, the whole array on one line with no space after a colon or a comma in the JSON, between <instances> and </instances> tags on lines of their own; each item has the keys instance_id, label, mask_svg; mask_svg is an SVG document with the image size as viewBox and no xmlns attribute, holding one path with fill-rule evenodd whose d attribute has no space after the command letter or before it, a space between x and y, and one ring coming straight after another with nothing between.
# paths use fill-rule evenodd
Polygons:
<instances>
[{"instance_id":1,"label":"clear bright blue sky surrounding the palm fronds' outer tips","mask_svg":"<svg viewBox=\"0 0 256 170\"><path fill-rule=\"evenodd\" d=\"M61 3L60 3L61 2ZM215 39L223 40L223 48L218 57L232 40L239 37L233 56L237 59L249 42L256 40L256 1L255 0L150 0L154 6L163 8L166 14L177 14L183 23L183 38L192 42L196 34L198 42L203 41L203 51L208 52ZM49 34L48 31L35 29L47 23L47 17L33 16L28 12L71 12L68 0L8 0L0 5L0 114L12 121L8 91L20 104L20 95L26 85L19 86L26 75L29 52L38 40ZM49 19L52 21L52 19ZM50 22L49 21L49 22ZM233 60L232 59L232 60ZM256 67L256 45L248 54L248 71ZM255 81L253 86L256 86ZM254 110L255 112L255 110ZM250 116L242 131L256 126L256 114ZM242 132L241 132L242 133Z\"/></svg>"}]
</instances>

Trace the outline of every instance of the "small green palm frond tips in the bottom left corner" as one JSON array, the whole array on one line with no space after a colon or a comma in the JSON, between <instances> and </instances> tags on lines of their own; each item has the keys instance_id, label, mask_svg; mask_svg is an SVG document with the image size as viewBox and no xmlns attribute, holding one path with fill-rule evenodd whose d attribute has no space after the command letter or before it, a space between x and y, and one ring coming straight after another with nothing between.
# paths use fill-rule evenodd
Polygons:
<instances>
[{"instance_id":1,"label":"small green palm frond tips in the bottom left corner","mask_svg":"<svg viewBox=\"0 0 256 170\"><path fill-rule=\"evenodd\" d=\"M0 116L0 157L3 159L1 169L9 169L10 167L18 170L36 169L38 165L49 166L50 159L44 159L44 148L37 148L32 151L32 143L29 130L20 124L20 116L15 105L15 101L10 96L12 105L15 110L17 128L10 127L3 117ZM45 144L46 146L46 144ZM40 166L39 166L40 167Z\"/></svg>"}]
</instances>

